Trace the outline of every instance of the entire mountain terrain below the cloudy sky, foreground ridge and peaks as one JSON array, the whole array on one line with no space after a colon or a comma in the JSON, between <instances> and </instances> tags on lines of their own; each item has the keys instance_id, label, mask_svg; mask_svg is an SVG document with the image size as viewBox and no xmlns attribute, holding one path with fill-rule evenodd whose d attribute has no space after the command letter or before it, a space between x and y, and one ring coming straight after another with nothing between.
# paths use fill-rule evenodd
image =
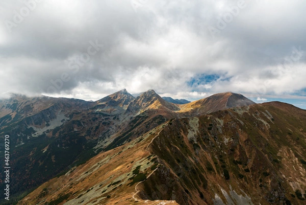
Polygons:
<instances>
[{"instance_id":1,"label":"entire mountain terrain below the cloudy sky, foreground ridge and peaks","mask_svg":"<svg viewBox=\"0 0 306 205\"><path fill-rule=\"evenodd\" d=\"M123 89L0 101L10 203L303 204L306 110L234 93L170 100Z\"/></svg>"}]
</instances>

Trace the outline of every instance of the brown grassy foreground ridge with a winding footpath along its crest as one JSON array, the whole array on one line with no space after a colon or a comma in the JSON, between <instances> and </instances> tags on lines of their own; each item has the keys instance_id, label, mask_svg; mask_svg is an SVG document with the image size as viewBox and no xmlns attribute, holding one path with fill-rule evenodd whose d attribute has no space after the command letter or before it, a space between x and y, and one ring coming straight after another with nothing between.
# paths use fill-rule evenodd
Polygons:
<instances>
[{"instance_id":1,"label":"brown grassy foreground ridge with a winding footpath along its crest","mask_svg":"<svg viewBox=\"0 0 306 205\"><path fill-rule=\"evenodd\" d=\"M169 120L18 204L304 204L305 125L279 102Z\"/></svg>"}]
</instances>

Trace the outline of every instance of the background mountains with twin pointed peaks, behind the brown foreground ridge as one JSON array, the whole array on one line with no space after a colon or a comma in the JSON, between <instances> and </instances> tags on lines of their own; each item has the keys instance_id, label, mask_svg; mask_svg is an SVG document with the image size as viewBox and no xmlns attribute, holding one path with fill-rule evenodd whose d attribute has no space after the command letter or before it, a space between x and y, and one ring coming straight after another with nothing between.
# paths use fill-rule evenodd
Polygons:
<instances>
[{"instance_id":1,"label":"background mountains with twin pointed peaks, behind the brown foreground ridge","mask_svg":"<svg viewBox=\"0 0 306 205\"><path fill-rule=\"evenodd\" d=\"M238 94L217 94L177 105L154 90L134 98L125 89L96 102L18 95L0 101L0 133L2 138L4 134L11 136L15 173L11 194L20 197L71 166L131 142L170 119L199 116L246 102L250 103Z\"/></svg>"}]
</instances>

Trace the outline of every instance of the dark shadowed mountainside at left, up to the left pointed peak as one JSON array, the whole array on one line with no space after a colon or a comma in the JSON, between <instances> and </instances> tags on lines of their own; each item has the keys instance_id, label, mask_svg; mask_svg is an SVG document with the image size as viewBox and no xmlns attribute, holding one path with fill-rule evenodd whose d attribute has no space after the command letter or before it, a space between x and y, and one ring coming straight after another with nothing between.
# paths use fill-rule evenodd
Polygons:
<instances>
[{"instance_id":1,"label":"dark shadowed mountainside at left, up to the left pointed peak","mask_svg":"<svg viewBox=\"0 0 306 205\"><path fill-rule=\"evenodd\" d=\"M0 133L10 135L11 195L22 195L94 156L99 142L107 143L127 124L122 115L132 100L121 90L96 102L20 95L0 101Z\"/></svg>"}]
</instances>

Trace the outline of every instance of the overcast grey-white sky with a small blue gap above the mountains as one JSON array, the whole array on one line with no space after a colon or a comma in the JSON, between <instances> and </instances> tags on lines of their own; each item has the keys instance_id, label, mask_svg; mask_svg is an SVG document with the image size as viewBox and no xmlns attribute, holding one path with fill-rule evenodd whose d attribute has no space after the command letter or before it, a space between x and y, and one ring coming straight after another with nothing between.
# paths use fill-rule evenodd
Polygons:
<instances>
[{"instance_id":1,"label":"overcast grey-white sky with a small blue gap above the mountains","mask_svg":"<svg viewBox=\"0 0 306 205\"><path fill-rule=\"evenodd\" d=\"M0 97L126 88L306 108L304 0L0 2Z\"/></svg>"}]
</instances>

